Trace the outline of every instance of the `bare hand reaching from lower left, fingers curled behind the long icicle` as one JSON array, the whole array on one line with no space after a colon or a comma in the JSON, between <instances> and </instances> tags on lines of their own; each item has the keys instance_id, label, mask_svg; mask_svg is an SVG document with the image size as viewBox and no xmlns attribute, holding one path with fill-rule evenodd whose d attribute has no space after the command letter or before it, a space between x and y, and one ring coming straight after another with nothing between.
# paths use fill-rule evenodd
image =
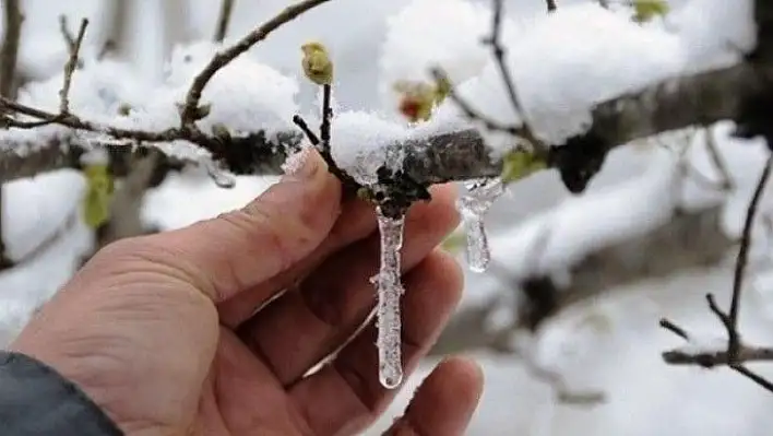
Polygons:
<instances>
[{"instance_id":1,"label":"bare hand reaching from lower left, fingers curled behind the long icicle","mask_svg":"<svg viewBox=\"0 0 773 436\"><path fill-rule=\"evenodd\" d=\"M453 202L439 187L406 217L406 374L461 296L459 266L436 249L457 224ZM374 325L347 342L374 304L378 252L372 207L342 204L309 152L242 210L104 248L11 347L75 382L128 435L356 434L395 394L378 381ZM475 364L447 361L391 434L462 434L481 384Z\"/></svg>"}]
</instances>

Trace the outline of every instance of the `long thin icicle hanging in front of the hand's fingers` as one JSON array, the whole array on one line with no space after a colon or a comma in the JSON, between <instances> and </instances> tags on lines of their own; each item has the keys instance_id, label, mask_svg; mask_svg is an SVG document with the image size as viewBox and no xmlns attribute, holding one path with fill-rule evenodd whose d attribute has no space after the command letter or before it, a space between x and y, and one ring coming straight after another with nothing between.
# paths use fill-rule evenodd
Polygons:
<instances>
[{"instance_id":1,"label":"long thin icicle hanging in front of the hand's fingers","mask_svg":"<svg viewBox=\"0 0 773 436\"><path fill-rule=\"evenodd\" d=\"M391 219L376 208L381 235L381 267L370 279L378 292L379 330L376 345L379 349L379 381L386 389L394 389L403 380L401 356L400 297L403 285L400 282L400 250L403 247L405 217Z\"/></svg>"}]
</instances>

